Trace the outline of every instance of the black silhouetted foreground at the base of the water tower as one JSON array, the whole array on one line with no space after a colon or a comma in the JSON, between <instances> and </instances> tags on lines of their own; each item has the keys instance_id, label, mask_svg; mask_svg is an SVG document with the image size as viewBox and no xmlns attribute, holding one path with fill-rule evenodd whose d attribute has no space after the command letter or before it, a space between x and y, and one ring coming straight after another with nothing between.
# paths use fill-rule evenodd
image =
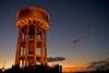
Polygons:
<instances>
[{"instance_id":1,"label":"black silhouetted foreground at the base of the water tower","mask_svg":"<svg viewBox=\"0 0 109 73\"><path fill-rule=\"evenodd\" d=\"M36 65L36 66L27 66L24 69L20 69L19 66L14 65L5 71L0 70L0 73L62 73L62 68L61 65L55 65L55 66Z\"/></svg>"}]
</instances>

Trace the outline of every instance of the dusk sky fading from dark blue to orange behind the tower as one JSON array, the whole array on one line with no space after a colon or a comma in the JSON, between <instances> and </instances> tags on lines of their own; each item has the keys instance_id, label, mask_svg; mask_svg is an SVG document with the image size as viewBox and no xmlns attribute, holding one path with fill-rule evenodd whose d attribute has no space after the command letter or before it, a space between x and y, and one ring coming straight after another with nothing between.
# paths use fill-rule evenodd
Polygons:
<instances>
[{"instance_id":1,"label":"dusk sky fading from dark blue to orange behind the tower","mask_svg":"<svg viewBox=\"0 0 109 73\"><path fill-rule=\"evenodd\" d=\"M51 15L48 57L64 57L59 62L63 66L109 58L108 0L0 0L0 68L4 61L5 66L14 64L16 13L32 5L44 8Z\"/></svg>"}]
</instances>

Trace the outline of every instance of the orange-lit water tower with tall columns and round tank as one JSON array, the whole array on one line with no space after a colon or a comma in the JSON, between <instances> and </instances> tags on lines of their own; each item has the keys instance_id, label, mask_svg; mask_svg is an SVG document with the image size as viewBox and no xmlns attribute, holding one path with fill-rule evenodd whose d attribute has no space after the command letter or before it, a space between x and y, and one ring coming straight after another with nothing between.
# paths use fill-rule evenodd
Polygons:
<instances>
[{"instance_id":1,"label":"orange-lit water tower with tall columns and round tank","mask_svg":"<svg viewBox=\"0 0 109 73\"><path fill-rule=\"evenodd\" d=\"M49 19L49 14L39 8L31 7L17 12L16 65L23 68L47 64L46 33Z\"/></svg>"}]
</instances>

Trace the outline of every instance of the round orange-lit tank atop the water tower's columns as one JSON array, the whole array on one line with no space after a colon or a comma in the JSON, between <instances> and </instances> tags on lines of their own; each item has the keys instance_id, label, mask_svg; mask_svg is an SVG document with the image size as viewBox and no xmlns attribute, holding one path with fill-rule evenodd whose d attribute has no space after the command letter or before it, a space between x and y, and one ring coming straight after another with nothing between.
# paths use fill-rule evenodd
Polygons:
<instances>
[{"instance_id":1,"label":"round orange-lit tank atop the water tower's columns","mask_svg":"<svg viewBox=\"0 0 109 73\"><path fill-rule=\"evenodd\" d=\"M39 8L29 7L26 9L22 9L17 12L19 28L28 25L29 22L34 22L38 24L38 26L40 26L41 28L48 29L49 20L50 20L50 15L47 13L47 11Z\"/></svg>"}]
</instances>

